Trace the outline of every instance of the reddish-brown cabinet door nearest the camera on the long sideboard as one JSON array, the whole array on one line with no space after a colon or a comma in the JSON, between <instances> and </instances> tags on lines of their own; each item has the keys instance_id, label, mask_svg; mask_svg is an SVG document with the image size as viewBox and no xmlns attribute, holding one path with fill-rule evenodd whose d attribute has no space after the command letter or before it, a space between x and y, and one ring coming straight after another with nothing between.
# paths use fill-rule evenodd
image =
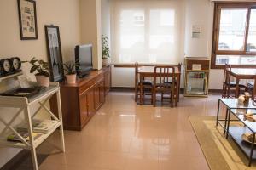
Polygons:
<instances>
[{"instance_id":1,"label":"reddish-brown cabinet door nearest the camera on the long sideboard","mask_svg":"<svg viewBox=\"0 0 256 170\"><path fill-rule=\"evenodd\" d=\"M87 101L87 95L83 94L79 96L79 105L80 105L80 123L83 125L88 118L88 101Z\"/></svg>"}]
</instances>

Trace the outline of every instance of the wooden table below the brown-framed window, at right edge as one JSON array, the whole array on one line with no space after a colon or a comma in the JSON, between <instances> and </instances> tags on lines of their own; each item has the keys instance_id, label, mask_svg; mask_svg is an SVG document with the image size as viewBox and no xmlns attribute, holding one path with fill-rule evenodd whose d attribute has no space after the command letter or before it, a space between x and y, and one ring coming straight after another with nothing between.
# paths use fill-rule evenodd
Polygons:
<instances>
[{"instance_id":1,"label":"wooden table below the brown-framed window, at right edge","mask_svg":"<svg viewBox=\"0 0 256 170\"><path fill-rule=\"evenodd\" d=\"M232 68L230 71L230 75L232 77L236 78L236 92L235 92L235 97L239 97L239 82L241 79L252 79L256 80L256 69L248 69L248 68ZM255 83L254 83L255 84ZM253 88L253 96L255 94L256 88L254 85Z\"/></svg>"}]
</instances>

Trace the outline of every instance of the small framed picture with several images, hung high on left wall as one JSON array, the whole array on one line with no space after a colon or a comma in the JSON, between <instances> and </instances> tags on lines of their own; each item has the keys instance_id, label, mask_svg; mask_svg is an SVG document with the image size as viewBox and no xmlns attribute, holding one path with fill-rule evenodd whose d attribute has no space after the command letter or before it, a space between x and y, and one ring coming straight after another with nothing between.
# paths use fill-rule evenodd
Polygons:
<instances>
[{"instance_id":1,"label":"small framed picture with several images, hung high on left wall","mask_svg":"<svg viewBox=\"0 0 256 170\"><path fill-rule=\"evenodd\" d=\"M36 2L33 0L18 0L20 21L20 39L38 39Z\"/></svg>"}]
</instances>

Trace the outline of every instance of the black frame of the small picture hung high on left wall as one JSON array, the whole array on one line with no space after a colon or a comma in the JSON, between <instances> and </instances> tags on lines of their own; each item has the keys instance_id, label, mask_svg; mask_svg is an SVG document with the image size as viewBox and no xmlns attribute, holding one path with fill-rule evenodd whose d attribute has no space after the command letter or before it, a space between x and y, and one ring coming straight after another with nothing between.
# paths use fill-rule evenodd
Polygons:
<instances>
[{"instance_id":1,"label":"black frame of the small picture hung high on left wall","mask_svg":"<svg viewBox=\"0 0 256 170\"><path fill-rule=\"evenodd\" d=\"M35 36L34 37L25 37L24 33L23 33L23 25L22 25L22 19L21 19L21 9L20 9L20 2L21 1L26 1L28 3L32 3L33 4L33 17L34 17L34 32L35 32ZM38 22L37 22L37 8L36 8L36 2L33 0L17 0L18 2L18 11L19 11L19 22L20 22L20 39L21 40L35 40L38 39Z\"/></svg>"}]
</instances>

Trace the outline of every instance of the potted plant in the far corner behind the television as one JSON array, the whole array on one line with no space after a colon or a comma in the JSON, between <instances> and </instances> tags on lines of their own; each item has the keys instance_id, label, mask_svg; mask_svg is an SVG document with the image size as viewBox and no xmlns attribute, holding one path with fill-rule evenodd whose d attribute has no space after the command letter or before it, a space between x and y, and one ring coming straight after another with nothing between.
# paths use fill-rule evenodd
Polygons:
<instances>
[{"instance_id":1,"label":"potted plant in the far corner behind the television","mask_svg":"<svg viewBox=\"0 0 256 170\"><path fill-rule=\"evenodd\" d=\"M109 47L108 47L108 37L102 35L102 65L108 66L111 63Z\"/></svg>"}]
</instances>

